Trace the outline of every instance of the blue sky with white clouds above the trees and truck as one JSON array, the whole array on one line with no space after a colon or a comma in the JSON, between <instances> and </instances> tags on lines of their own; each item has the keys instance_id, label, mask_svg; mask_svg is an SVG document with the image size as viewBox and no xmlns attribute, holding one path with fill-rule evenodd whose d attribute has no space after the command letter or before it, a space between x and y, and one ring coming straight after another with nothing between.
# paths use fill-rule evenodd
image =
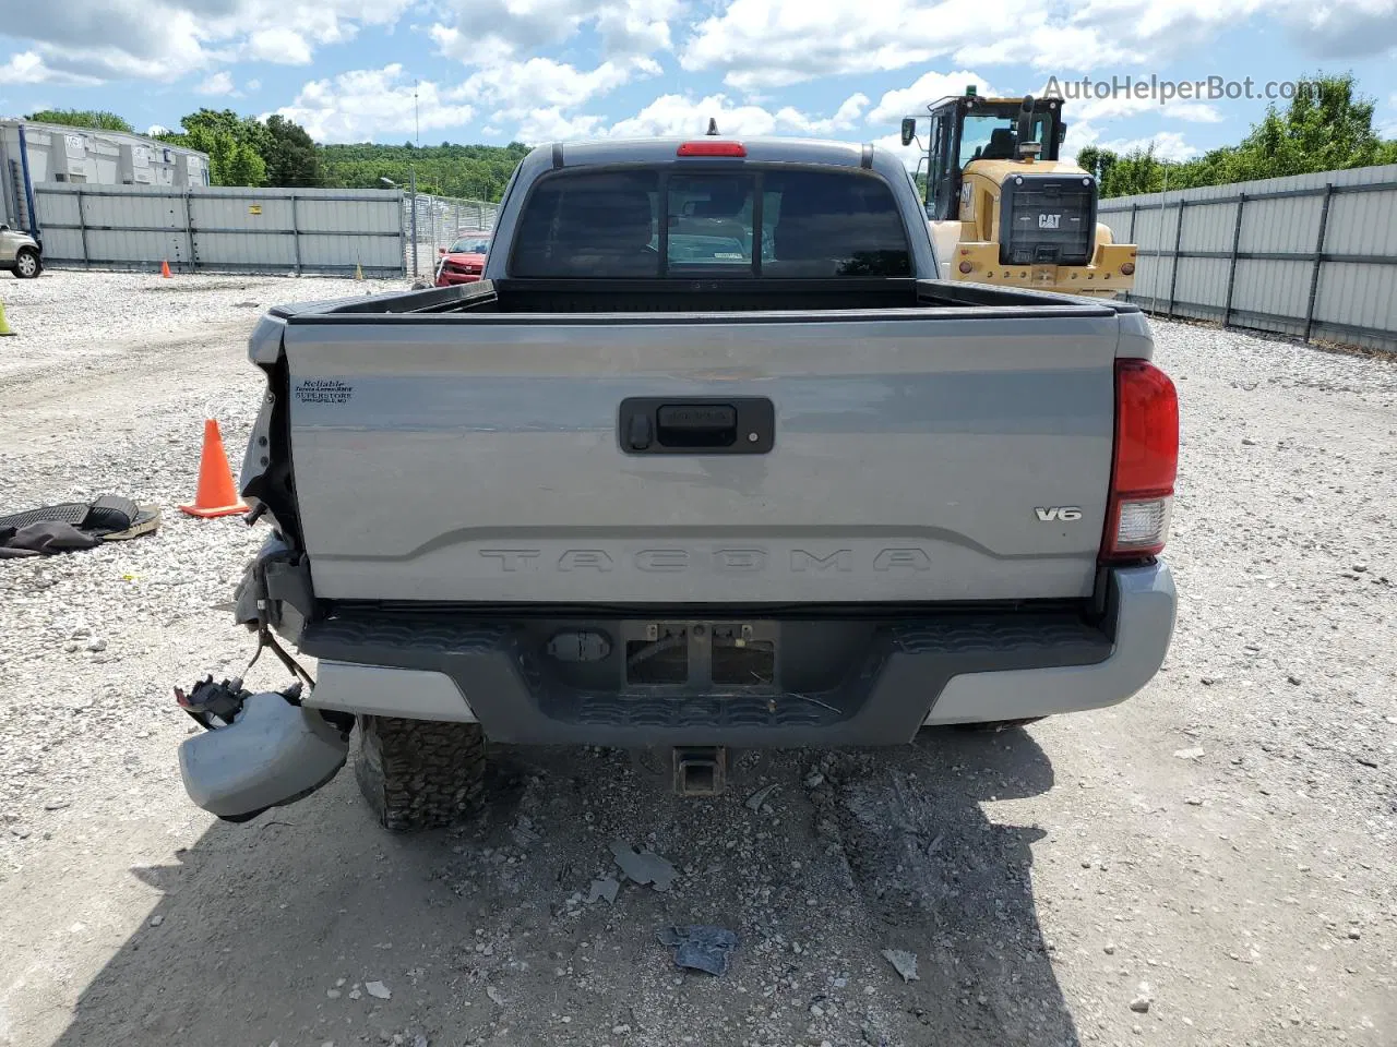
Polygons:
<instances>
[{"instance_id":1,"label":"blue sky with white clouds above the trees and truck","mask_svg":"<svg viewBox=\"0 0 1397 1047\"><path fill-rule=\"evenodd\" d=\"M18 0L15 0L18 3ZM0 114L101 107L140 130L200 106L321 141L700 133L895 145L965 84L1271 81L1352 71L1397 137L1397 0L70 0L0 20ZM1264 98L1069 101L1069 152L1238 141ZM1284 102L1282 102L1284 105Z\"/></svg>"}]
</instances>

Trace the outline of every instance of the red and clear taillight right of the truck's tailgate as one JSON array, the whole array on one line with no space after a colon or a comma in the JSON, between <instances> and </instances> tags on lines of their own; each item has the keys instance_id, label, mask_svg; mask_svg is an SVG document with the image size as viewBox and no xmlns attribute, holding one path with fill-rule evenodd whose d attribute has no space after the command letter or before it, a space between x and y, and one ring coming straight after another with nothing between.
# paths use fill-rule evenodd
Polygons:
<instances>
[{"instance_id":1,"label":"red and clear taillight right of the truck's tailgate","mask_svg":"<svg viewBox=\"0 0 1397 1047\"><path fill-rule=\"evenodd\" d=\"M1143 558L1164 549L1178 468L1173 383L1146 360L1116 360L1116 445L1102 558Z\"/></svg>"}]
</instances>

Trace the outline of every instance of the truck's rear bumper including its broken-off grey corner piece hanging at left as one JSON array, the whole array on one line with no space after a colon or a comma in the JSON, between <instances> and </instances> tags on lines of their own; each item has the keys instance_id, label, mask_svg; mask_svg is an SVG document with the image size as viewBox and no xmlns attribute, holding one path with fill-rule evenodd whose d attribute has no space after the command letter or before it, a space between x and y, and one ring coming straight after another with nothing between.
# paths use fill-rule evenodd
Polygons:
<instances>
[{"instance_id":1,"label":"truck's rear bumper including its broken-off grey corner piece hanging at left","mask_svg":"<svg viewBox=\"0 0 1397 1047\"><path fill-rule=\"evenodd\" d=\"M300 649L320 659L300 705L250 695L232 725L183 743L180 771L194 803L243 821L334 778L348 732L332 720L346 725L344 713L479 722L490 740L520 744L901 744L928 725L1125 701L1164 662L1175 602L1169 571L1157 563L1112 572L1099 625L1071 611L499 625L341 614L300 632ZM771 653L763 662L750 651ZM756 681L719 683L733 664ZM650 674L643 685L633 670Z\"/></svg>"}]
</instances>

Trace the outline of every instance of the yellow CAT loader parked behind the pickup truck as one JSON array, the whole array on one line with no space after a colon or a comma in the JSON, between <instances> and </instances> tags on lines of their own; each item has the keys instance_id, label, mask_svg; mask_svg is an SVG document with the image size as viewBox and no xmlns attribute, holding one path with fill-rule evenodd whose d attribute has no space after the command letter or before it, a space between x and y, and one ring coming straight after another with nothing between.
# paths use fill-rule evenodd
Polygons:
<instances>
[{"instance_id":1,"label":"yellow CAT loader parked behind the pickup truck","mask_svg":"<svg viewBox=\"0 0 1397 1047\"><path fill-rule=\"evenodd\" d=\"M1097 222L1097 180L1058 159L1062 99L979 98L928 106L926 216L943 279L1113 297L1134 283L1136 244ZM902 145L916 121L902 120ZM918 161L918 173L922 173Z\"/></svg>"}]
</instances>

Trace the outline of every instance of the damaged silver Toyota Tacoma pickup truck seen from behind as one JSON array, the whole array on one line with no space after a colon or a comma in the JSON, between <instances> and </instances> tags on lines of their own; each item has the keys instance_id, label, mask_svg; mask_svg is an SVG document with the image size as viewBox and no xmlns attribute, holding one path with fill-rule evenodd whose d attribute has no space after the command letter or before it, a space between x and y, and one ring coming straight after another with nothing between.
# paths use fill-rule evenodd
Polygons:
<instances>
[{"instance_id":1,"label":"damaged silver Toyota Tacoma pickup truck seen from behind","mask_svg":"<svg viewBox=\"0 0 1397 1047\"><path fill-rule=\"evenodd\" d=\"M728 747L904 744L1158 670L1178 403L1146 318L937 279L893 154L543 147L483 275L256 328L242 490L274 535L237 618L319 666L184 698L201 807L299 799L353 736L390 828L468 805L486 740L664 747L711 794Z\"/></svg>"}]
</instances>

